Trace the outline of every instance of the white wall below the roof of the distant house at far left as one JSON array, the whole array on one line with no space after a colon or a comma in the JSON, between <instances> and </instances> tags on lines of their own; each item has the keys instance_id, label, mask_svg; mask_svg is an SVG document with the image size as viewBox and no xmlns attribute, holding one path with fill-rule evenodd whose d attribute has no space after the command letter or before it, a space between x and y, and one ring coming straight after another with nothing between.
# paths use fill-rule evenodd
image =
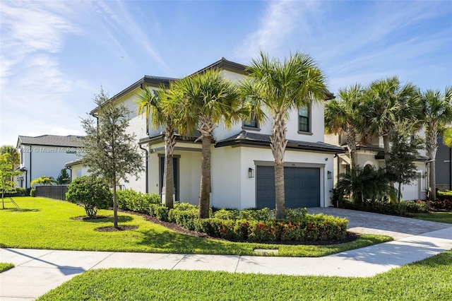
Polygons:
<instances>
[{"instance_id":1,"label":"white wall below the roof of the distant house at far left","mask_svg":"<svg viewBox=\"0 0 452 301\"><path fill-rule=\"evenodd\" d=\"M20 177L23 177L24 188L30 188L30 182L38 177L47 176L57 179L61 169L66 168L67 162L80 158L74 151L77 148L68 148L64 146L30 146L21 145L21 163L20 167L27 169ZM20 182L18 183L20 184Z\"/></svg>"}]
</instances>

